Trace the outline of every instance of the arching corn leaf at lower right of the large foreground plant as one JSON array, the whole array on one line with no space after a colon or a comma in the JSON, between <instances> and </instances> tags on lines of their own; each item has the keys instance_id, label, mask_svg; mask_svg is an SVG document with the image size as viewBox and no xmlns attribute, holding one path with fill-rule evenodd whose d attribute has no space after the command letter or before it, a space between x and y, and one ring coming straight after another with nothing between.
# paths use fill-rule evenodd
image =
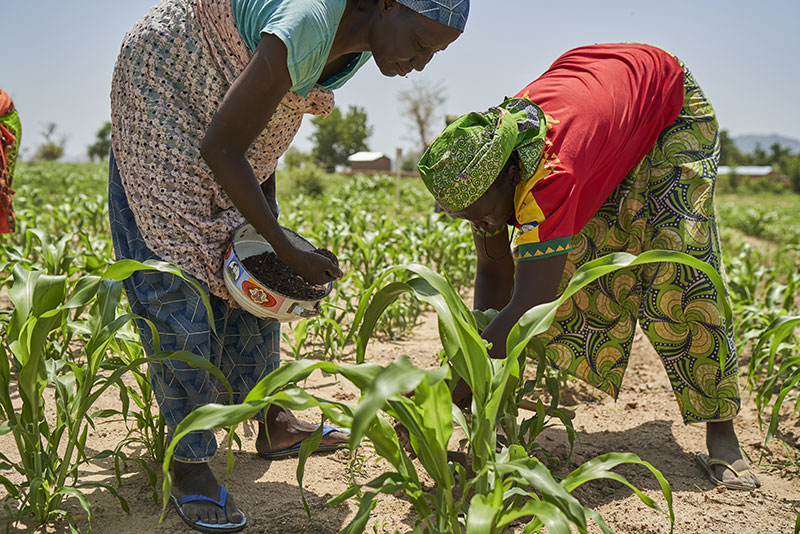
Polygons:
<instances>
[{"instance_id":1,"label":"arching corn leaf at lower right of the large foreground plant","mask_svg":"<svg viewBox=\"0 0 800 534\"><path fill-rule=\"evenodd\" d=\"M584 484L590 480L596 480L598 478L616 480L617 482L621 482L622 484L625 484L631 488L639 497L639 499L647 506L660 512L664 512L661 507L659 507L650 497L642 493L624 477L611 471L611 469L621 464L643 465L653 474L658 481L659 486L661 487L661 493L664 495L664 499L667 501L669 512L665 513L665 515L669 517L670 524L674 525L675 512L672 508L672 489L670 488L669 482L667 482L667 479L661 474L661 471L653 467L650 463L645 462L635 454L612 452L598 456L597 458L584 463L570 473L563 481L561 481L561 485L564 486L567 491L572 491L581 484Z\"/></svg>"}]
</instances>

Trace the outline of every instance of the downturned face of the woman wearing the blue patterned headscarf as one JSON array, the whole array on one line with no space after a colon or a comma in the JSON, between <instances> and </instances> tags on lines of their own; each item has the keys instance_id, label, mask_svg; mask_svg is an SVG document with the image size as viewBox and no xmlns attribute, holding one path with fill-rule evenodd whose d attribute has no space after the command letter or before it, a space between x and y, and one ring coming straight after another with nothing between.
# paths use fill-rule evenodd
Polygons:
<instances>
[{"instance_id":1,"label":"downturned face of the woman wearing the blue patterned headscarf","mask_svg":"<svg viewBox=\"0 0 800 534\"><path fill-rule=\"evenodd\" d=\"M370 30L372 56L384 76L422 70L436 52L461 35L393 0L379 0L381 16Z\"/></svg>"}]
</instances>

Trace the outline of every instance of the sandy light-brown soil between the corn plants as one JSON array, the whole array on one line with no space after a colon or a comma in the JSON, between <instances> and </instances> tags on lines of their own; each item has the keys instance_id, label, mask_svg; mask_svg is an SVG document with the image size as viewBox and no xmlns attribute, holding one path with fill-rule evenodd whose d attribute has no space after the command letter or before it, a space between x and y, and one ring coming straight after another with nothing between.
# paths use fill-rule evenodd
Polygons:
<instances>
[{"instance_id":1,"label":"sandy light-brown soil between the corn plants","mask_svg":"<svg viewBox=\"0 0 800 534\"><path fill-rule=\"evenodd\" d=\"M420 366L437 363L439 339L436 317L426 315L423 324L410 338L400 342L375 342L370 345L368 359L386 364L407 355ZM288 354L286 355L288 357ZM744 382L742 382L744 384ZM335 377L314 375L306 384L314 394L340 400L355 400L356 390ZM790 533L800 508L800 470L784 465L786 453L777 440L763 446L763 434L758 428L753 398L744 390L743 409L736 420L742 448L755 463L754 468L762 487L753 492L721 491L714 488L695 462L695 455L705 452L704 425L684 426L680 421L669 382L656 353L641 332L637 334L628 376L617 402L596 395L577 382L570 382L563 404L576 411L575 428L579 441L564 474L597 455L611 452L633 452L652 463L672 485L676 516L675 532L714 534ZM116 407L116 395L102 399L98 409ZM314 414L301 417L313 420ZM787 418L782 425L784 436L797 446L800 422ZM88 446L96 451L113 448L124 436L121 422L99 425L90 435ZM300 501L296 481L297 460L266 461L255 454L252 428L240 429L242 451L235 452L233 475L226 481L237 504L247 514L252 533L335 533L353 517L356 505L350 501L330 508L326 501L347 488L348 478L366 481L381 472L382 466L368 447L360 449L362 459L353 469L347 453L339 451L326 456L314 456L306 465L306 496L312 510L309 520ZM219 434L222 443L223 434ZM0 438L0 450L14 457L9 436ZM542 445L566 459L568 444L563 428L545 431ZM795 454L797 450L795 449ZM225 455L217 453L212 462L218 478L225 476ZM421 469L421 467L420 467ZM656 480L644 468L621 469L629 480L663 504ZM92 462L83 469L81 480L96 480L115 484L113 463L110 460ZM159 486L160 487L160 486ZM184 526L174 511L169 511L159 527L160 504L153 502L152 490L138 464L130 462L118 491L131 506L130 515L107 491L94 491L90 501L94 508L93 531L99 534L140 534L149 532L192 532ZM0 496L4 490L0 489ZM596 508L606 522L618 533L669 532L668 520L647 508L628 488L615 482L593 482L579 488L575 495L586 505ZM74 505L74 506L73 506ZM83 512L70 503L75 514ZM1 514L1 512L0 512ZM373 512L368 532L410 532L415 520L408 502L386 496ZM4 522L4 519L3 519ZM88 523L79 522L82 530ZM20 525L19 532L68 532L65 525L33 528ZM593 532L599 532L595 528Z\"/></svg>"}]
</instances>

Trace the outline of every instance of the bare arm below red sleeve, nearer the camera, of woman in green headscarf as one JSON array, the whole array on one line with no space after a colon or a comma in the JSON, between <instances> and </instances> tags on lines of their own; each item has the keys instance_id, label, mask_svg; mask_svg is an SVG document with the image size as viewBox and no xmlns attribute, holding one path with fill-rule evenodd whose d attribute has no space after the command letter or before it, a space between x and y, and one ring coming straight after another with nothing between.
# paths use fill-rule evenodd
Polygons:
<instances>
[{"instance_id":1,"label":"bare arm below red sleeve, nearer the camera, of woman in green headscarf","mask_svg":"<svg viewBox=\"0 0 800 534\"><path fill-rule=\"evenodd\" d=\"M560 254L517 263L511 301L481 333L483 339L492 343L489 351L492 358L506 356L508 333L526 311L556 298L566 262L567 255Z\"/></svg>"}]
</instances>

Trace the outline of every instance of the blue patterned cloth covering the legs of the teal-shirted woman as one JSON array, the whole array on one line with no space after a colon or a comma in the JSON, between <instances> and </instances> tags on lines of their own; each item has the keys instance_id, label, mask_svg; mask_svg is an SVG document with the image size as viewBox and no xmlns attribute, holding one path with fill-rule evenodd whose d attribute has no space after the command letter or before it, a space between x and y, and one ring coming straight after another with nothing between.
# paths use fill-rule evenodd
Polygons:
<instances>
[{"instance_id":1,"label":"blue patterned cloth covering the legs of the teal-shirted woman","mask_svg":"<svg viewBox=\"0 0 800 534\"><path fill-rule=\"evenodd\" d=\"M139 233L113 154L109 162L108 204L117 259L160 260ZM188 350L207 359L228 379L234 401L241 402L280 365L280 323L232 308L199 283L211 301L216 334L200 295L185 280L173 274L140 271L123 282L133 313L152 321L158 330L161 350ZM136 320L136 325L145 352L152 354L150 327L141 319ZM227 389L208 371L176 360L150 363L150 380L170 436L195 408L209 403L227 404L229 399ZM263 420L263 414L259 419ZM207 462L216 450L213 431L191 432L176 447L175 459Z\"/></svg>"}]
</instances>

